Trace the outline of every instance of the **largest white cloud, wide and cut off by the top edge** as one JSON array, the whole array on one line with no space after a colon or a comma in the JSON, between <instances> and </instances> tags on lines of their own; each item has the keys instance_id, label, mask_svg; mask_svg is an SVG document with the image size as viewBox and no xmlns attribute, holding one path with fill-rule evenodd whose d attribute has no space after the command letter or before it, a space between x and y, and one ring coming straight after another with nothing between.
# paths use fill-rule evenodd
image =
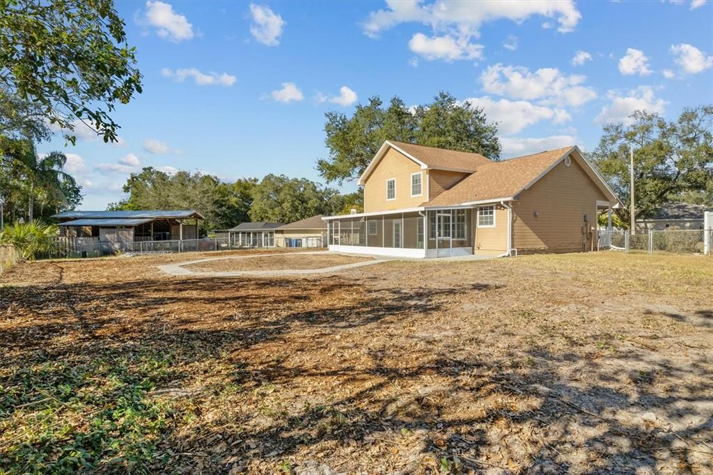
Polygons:
<instances>
[{"instance_id":1,"label":"largest white cloud, wide and cut off by the top edge","mask_svg":"<svg viewBox=\"0 0 713 475\"><path fill-rule=\"evenodd\" d=\"M573 31L582 15L572 0L539 1L446 1L425 3L419 0L387 0L388 9L372 11L362 25L368 36L379 36L381 31L403 23L427 24L434 31L456 30L461 34L477 35L488 21L509 19L522 23L530 16L556 19L559 31Z\"/></svg>"}]
</instances>

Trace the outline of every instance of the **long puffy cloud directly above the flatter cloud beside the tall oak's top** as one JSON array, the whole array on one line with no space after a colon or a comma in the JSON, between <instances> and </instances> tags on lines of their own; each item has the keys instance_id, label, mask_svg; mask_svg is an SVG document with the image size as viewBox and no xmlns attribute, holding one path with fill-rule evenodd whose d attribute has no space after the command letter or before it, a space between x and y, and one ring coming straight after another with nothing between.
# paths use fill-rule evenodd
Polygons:
<instances>
[{"instance_id":1,"label":"long puffy cloud directly above the flatter cloud beside the tall oak's top","mask_svg":"<svg viewBox=\"0 0 713 475\"><path fill-rule=\"evenodd\" d=\"M489 66L481 74L483 91L516 99L539 99L545 104L580 106L597 97L593 88L582 86L587 76L567 76L557 68L530 73L524 66Z\"/></svg>"}]
</instances>

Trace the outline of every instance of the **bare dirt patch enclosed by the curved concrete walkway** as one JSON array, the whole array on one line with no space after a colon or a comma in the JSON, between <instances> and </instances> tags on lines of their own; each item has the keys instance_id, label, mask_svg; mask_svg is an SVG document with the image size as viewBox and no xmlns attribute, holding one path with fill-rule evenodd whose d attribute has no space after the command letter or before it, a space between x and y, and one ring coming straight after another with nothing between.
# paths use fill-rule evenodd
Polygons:
<instances>
[{"instance_id":1,"label":"bare dirt patch enclosed by the curved concrete walkway","mask_svg":"<svg viewBox=\"0 0 713 475\"><path fill-rule=\"evenodd\" d=\"M193 272L232 272L240 270L286 270L286 269L322 269L336 265L354 264L373 260L371 257L352 257L348 255L324 254L280 254L270 257L250 257L249 259L221 259L199 262L184 266Z\"/></svg>"}]
</instances>

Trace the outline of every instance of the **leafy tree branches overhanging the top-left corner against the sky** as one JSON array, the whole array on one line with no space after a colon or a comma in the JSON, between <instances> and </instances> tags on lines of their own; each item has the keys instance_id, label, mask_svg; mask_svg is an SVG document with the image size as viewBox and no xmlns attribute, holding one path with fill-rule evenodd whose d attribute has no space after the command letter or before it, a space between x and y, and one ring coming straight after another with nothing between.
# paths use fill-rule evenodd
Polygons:
<instances>
[{"instance_id":1,"label":"leafy tree branches overhanging the top-left corner against the sky","mask_svg":"<svg viewBox=\"0 0 713 475\"><path fill-rule=\"evenodd\" d=\"M109 113L141 92L124 26L112 0L0 1L0 88L60 128L79 120L116 141Z\"/></svg>"}]
</instances>

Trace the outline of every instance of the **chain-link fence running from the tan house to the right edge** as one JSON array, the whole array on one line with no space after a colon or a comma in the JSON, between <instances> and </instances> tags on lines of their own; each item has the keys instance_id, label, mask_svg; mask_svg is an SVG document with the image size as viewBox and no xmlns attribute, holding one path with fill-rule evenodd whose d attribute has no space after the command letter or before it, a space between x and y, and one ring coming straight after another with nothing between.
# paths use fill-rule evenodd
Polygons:
<instances>
[{"instance_id":1,"label":"chain-link fence running from the tan house to the right edge","mask_svg":"<svg viewBox=\"0 0 713 475\"><path fill-rule=\"evenodd\" d=\"M713 256L713 229L708 230L600 230L597 249Z\"/></svg>"}]
</instances>

